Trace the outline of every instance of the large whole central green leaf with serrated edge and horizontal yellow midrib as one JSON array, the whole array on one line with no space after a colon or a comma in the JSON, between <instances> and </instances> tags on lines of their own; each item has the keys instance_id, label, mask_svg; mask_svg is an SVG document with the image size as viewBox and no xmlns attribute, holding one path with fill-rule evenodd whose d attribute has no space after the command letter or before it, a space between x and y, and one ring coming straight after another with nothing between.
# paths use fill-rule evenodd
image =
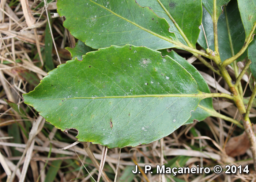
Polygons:
<instances>
[{"instance_id":1,"label":"large whole central green leaf with serrated edge and horizontal yellow midrib","mask_svg":"<svg viewBox=\"0 0 256 182\"><path fill-rule=\"evenodd\" d=\"M55 127L109 148L163 138L184 124L203 94L175 60L126 45L89 52L61 64L23 94Z\"/></svg>"}]
</instances>

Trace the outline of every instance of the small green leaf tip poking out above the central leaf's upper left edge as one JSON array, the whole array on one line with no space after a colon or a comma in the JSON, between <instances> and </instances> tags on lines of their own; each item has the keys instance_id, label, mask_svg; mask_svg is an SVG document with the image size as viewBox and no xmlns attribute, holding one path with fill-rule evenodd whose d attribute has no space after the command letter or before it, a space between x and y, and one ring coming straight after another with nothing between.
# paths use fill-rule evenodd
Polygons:
<instances>
[{"instance_id":1,"label":"small green leaf tip poking out above the central leaf's upper left edge","mask_svg":"<svg viewBox=\"0 0 256 182\"><path fill-rule=\"evenodd\" d=\"M78 40L74 48L65 47L65 49L70 52L72 59L77 58L79 61L83 60L82 55L85 55L87 52L96 51L95 49L86 46L81 40Z\"/></svg>"}]
</instances>

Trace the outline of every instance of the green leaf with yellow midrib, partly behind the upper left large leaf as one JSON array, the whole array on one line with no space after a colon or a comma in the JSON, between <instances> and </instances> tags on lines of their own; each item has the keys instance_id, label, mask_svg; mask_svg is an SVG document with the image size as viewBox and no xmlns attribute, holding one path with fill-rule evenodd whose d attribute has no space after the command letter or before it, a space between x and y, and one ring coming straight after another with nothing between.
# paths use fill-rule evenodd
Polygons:
<instances>
[{"instance_id":1,"label":"green leaf with yellow midrib, partly behind the upper left large leaf","mask_svg":"<svg viewBox=\"0 0 256 182\"><path fill-rule=\"evenodd\" d=\"M165 18L170 25L169 31L175 32L176 36L183 44L187 45L188 43L184 37L182 37L182 34L185 35L191 45L195 47L200 32L198 27L201 25L202 21L202 3L200 0L136 1L142 7L150 7L158 16ZM172 20L174 20L177 24L174 24Z\"/></svg>"}]
</instances>

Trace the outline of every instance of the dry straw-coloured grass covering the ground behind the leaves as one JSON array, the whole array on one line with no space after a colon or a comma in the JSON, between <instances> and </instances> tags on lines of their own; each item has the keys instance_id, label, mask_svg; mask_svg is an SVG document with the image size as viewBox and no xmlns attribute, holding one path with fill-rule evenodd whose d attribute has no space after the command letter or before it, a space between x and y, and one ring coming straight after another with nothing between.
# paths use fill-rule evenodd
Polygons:
<instances>
[{"instance_id":1,"label":"dry straw-coloured grass covering the ground behind the leaves","mask_svg":"<svg viewBox=\"0 0 256 182\"><path fill-rule=\"evenodd\" d=\"M28 3L27 3L28 2ZM62 26L63 17L56 14L56 1L46 6L42 1L1 0L0 2L0 162L1 181L254 181L251 152L230 157L225 146L231 137L243 130L220 118L209 117L202 122L182 126L169 136L148 145L108 149L100 145L76 142L76 131L68 134L57 130L23 103L22 94L34 89L49 68L45 67L46 24L51 19L54 37L52 62L54 67L70 59L64 47L74 47L75 38ZM46 9L51 14L46 14ZM53 23L54 22L54 23ZM55 47L55 48L54 48ZM212 92L230 93L221 78L213 78L208 70L190 54L176 50L187 58L207 80ZM240 70L244 66L240 64ZM229 69L231 75L232 68ZM247 87L248 76L243 78ZM250 95L249 88L245 95ZM4 99L12 102L9 105ZM10 107L11 106L11 107ZM239 120L237 109L226 100L215 100L214 107L231 118ZM251 116L256 116L252 109ZM241 139L241 142L246 142ZM67 147L76 142L75 146ZM66 150L59 150L67 147ZM231 145L232 147L232 145ZM246 148L247 147L247 148ZM103 152L102 152L103 151ZM234 153L233 153L234 154ZM105 165L104 165L105 162ZM133 174L135 164L151 165L153 174ZM156 165L166 167L215 165L249 165L249 174L156 174ZM89 175L89 173L90 175ZM116 176L116 178L115 178ZM99 181L99 179L98 179Z\"/></svg>"}]
</instances>

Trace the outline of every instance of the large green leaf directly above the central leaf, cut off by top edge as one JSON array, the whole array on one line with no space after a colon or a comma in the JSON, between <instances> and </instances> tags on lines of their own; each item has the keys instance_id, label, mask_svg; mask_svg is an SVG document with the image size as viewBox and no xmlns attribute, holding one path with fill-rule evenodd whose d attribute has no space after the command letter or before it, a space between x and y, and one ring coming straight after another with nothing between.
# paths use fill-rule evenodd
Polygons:
<instances>
[{"instance_id":1,"label":"large green leaf directly above the central leaf, cut off by top edge","mask_svg":"<svg viewBox=\"0 0 256 182\"><path fill-rule=\"evenodd\" d=\"M57 7L66 18L64 27L94 49L129 43L158 50L176 47L169 41L178 41L164 18L135 0L61 0Z\"/></svg>"}]
</instances>

